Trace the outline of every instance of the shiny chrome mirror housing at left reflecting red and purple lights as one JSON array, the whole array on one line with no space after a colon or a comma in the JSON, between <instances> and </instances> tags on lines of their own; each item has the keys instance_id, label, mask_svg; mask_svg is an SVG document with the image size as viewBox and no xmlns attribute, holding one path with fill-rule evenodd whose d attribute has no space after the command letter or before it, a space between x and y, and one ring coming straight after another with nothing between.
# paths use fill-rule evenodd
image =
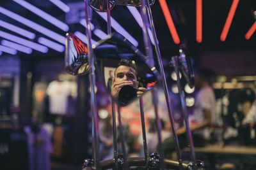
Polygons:
<instances>
[{"instance_id":1,"label":"shiny chrome mirror housing at left reflecting red and purple lights","mask_svg":"<svg viewBox=\"0 0 256 170\"><path fill-rule=\"evenodd\" d=\"M89 73L86 44L72 32L66 34L65 69L68 73L73 75Z\"/></svg>"}]
</instances>

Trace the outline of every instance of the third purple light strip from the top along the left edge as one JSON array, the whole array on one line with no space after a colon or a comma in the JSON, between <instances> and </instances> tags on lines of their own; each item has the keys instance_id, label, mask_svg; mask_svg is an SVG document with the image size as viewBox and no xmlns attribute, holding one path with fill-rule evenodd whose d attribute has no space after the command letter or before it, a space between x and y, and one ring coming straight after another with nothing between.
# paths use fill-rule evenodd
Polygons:
<instances>
[{"instance_id":1,"label":"third purple light strip from the top along the left edge","mask_svg":"<svg viewBox=\"0 0 256 170\"><path fill-rule=\"evenodd\" d=\"M18 36L14 36L13 34L9 34L9 33L4 32L4 31L0 31L0 37L3 37L5 39L9 39L11 41L17 42L17 43L19 43L21 45L24 45L24 46L29 46L30 48L32 48L34 50L37 50L39 52L42 52L42 53L47 53L48 52L48 48L46 46L38 45L37 43L34 43L32 41L28 41L27 39L23 39L23 38L20 38Z\"/></svg>"}]
</instances>

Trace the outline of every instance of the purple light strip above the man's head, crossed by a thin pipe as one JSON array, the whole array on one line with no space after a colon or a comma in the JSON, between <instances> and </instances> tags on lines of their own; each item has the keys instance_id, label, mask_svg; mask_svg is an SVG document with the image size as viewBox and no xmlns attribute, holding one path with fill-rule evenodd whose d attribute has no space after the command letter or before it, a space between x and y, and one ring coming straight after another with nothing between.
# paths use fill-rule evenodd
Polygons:
<instances>
[{"instance_id":1,"label":"purple light strip above the man's head, crossed by a thin pipe","mask_svg":"<svg viewBox=\"0 0 256 170\"><path fill-rule=\"evenodd\" d=\"M108 18L107 18L107 13L106 12L98 12L97 13L100 15L100 17L102 17L106 22L108 22ZM119 32L122 36L124 36L125 38L127 38L134 46L138 46L139 43L138 41L136 41L136 39L134 39L131 34L129 34L127 31L125 31L125 29L118 24L118 22L116 22L116 20L111 17L111 27L113 27L113 29L115 29L116 32Z\"/></svg>"}]
</instances>

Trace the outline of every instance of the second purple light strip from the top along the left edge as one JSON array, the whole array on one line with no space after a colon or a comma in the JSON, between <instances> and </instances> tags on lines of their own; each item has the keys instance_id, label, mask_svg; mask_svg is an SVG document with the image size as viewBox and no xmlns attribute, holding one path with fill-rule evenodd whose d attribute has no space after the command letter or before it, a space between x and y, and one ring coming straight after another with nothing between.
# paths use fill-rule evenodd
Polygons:
<instances>
[{"instance_id":1,"label":"second purple light strip from the top along the left edge","mask_svg":"<svg viewBox=\"0 0 256 170\"><path fill-rule=\"evenodd\" d=\"M26 29L22 29L8 22L4 22L3 20L0 20L0 26L9 29L10 31L16 32L17 34L20 34L29 39L34 39L36 37L33 32L27 31Z\"/></svg>"}]
</instances>

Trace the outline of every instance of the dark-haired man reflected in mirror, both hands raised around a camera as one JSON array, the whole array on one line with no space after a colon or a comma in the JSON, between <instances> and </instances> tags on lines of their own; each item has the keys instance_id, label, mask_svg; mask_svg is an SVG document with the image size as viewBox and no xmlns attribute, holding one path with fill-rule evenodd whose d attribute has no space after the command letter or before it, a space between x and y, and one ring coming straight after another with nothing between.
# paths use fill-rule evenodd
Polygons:
<instances>
[{"instance_id":1,"label":"dark-haired man reflected in mirror, both hands raised around a camera","mask_svg":"<svg viewBox=\"0 0 256 170\"><path fill-rule=\"evenodd\" d=\"M143 92L147 91L144 87L138 87L139 82L137 81L137 69L134 61L121 59L115 69L115 78L112 80L111 96L118 100L120 90L126 85L137 89L137 97L142 96Z\"/></svg>"}]
</instances>

